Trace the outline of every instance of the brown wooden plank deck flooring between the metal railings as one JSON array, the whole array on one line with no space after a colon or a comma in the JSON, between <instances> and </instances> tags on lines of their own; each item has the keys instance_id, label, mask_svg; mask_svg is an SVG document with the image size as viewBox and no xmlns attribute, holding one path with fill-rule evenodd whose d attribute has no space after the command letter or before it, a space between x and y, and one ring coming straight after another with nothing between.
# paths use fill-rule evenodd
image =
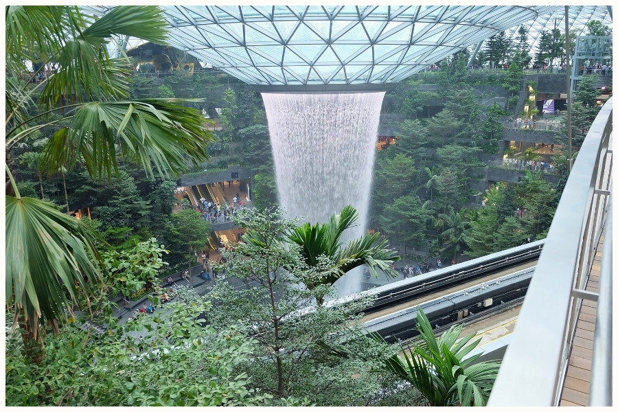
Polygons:
<instances>
[{"instance_id":1,"label":"brown wooden plank deck flooring between the metal railings","mask_svg":"<svg viewBox=\"0 0 618 412\"><path fill-rule=\"evenodd\" d=\"M603 233L597 246L593 267L586 284L586 290L599 292L599 275L601 271L601 256L603 251ZM597 319L597 302L584 300L582 310L577 319L573 350L567 367L567 378L564 380L561 407L587 407L590 394L590 378L592 365L593 340L595 322Z\"/></svg>"}]
</instances>

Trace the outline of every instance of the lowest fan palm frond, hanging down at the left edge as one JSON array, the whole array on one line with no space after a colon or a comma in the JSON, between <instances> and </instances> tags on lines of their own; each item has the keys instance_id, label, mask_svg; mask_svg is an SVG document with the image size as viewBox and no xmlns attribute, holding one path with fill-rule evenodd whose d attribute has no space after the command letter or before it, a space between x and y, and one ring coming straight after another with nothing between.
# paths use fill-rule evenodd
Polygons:
<instances>
[{"instance_id":1,"label":"lowest fan palm frond, hanging down at the left edge","mask_svg":"<svg viewBox=\"0 0 618 412\"><path fill-rule=\"evenodd\" d=\"M102 279L92 262L102 262L95 235L44 201L5 196L5 202L7 304L31 325L64 319L68 299L88 297Z\"/></svg>"}]
</instances>

